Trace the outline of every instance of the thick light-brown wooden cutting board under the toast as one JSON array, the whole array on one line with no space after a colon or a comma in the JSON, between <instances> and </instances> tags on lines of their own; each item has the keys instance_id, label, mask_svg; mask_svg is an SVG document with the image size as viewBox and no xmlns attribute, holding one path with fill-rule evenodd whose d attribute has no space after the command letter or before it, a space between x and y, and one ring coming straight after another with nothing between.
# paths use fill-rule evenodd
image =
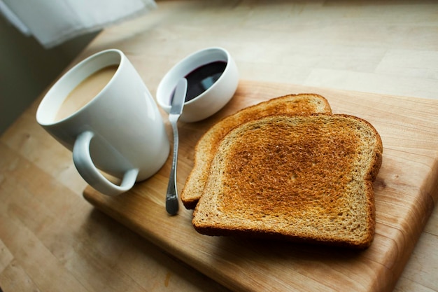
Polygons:
<instances>
[{"instance_id":1,"label":"thick light-brown wooden cutting board under the toast","mask_svg":"<svg viewBox=\"0 0 438 292\"><path fill-rule=\"evenodd\" d=\"M299 92L323 95L333 113L364 118L381 134L376 235L365 251L199 235L192 211L180 204L179 214L168 216L164 209L171 157L155 176L123 195L108 197L88 187L84 197L234 291L391 291L438 199L438 100L241 81L215 116L179 124L178 188L192 169L197 140L213 123L243 107ZM167 130L171 137L169 125Z\"/></svg>"}]
</instances>

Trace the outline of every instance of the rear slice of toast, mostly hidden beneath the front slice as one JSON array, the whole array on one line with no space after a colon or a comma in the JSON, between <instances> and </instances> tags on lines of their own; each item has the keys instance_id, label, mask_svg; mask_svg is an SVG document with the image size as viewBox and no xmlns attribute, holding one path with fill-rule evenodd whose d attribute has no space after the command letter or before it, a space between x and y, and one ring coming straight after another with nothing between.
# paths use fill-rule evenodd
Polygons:
<instances>
[{"instance_id":1,"label":"rear slice of toast, mostly hidden beneath the front slice","mask_svg":"<svg viewBox=\"0 0 438 292\"><path fill-rule=\"evenodd\" d=\"M234 127L250 120L275 115L309 115L311 113L332 113L327 99L316 94L285 95L266 102L249 106L213 125L197 142L195 165L185 181L181 200L186 209L195 209L202 195L220 140Z\"/></svg>"}]
</instances>

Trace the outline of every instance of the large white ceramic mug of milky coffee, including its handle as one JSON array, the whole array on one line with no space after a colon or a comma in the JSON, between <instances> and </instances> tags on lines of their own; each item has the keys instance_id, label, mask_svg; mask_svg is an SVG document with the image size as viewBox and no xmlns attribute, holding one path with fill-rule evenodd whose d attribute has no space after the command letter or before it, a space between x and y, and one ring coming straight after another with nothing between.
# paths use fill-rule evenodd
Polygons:
<instances>
[{"instance_id":1,"label":"large white ceramic mug of milky coffee, including its handle","mask_svg":"<svg viewBox=\"0 0 438 292\"><path fill-rule=\"evenodd\" d=\"M64 99L88 76L109 65L115 74L90 102L56 120ZM157 104L120 50L104 50L70 69L47 92L36 120L73 152L80 175L106 195L118 195L155 174L169 156L169 140ZM115 184L101 174L121 179Z\"/></svg>"}]
</instances>

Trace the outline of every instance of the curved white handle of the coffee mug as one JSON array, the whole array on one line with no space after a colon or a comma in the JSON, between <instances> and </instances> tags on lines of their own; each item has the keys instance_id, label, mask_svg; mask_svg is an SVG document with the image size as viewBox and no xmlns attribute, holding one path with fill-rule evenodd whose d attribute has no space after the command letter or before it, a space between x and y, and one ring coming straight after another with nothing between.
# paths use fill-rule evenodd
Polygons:
<instances>
[{"instance_id":1,"label":"curved white handle of the coffee mug","mask_svg":"<svg viewBox=\"0 0 438 292\"><path fill-rule=\"evenodd\" d=\"M113 196L125 193L134 186L137 175L139 174L139 169L129 169L125 172L120 186L106 179L106 177L99 172L91 159L90 143L93 137L93 132L85 131L76 138L73 146L73 162L76 169L78 169L80 176L82 176L90 186L104 193L104 195Z\"/></svg>"}]
</instances>

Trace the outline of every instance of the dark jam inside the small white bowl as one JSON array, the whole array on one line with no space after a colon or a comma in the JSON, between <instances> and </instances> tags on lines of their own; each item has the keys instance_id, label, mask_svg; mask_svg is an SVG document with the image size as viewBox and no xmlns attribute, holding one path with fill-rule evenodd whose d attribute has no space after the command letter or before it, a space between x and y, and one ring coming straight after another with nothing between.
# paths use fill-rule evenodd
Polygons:
<instances>
[{"instance_id":1,"label":"dark jam inside the small white bowl","mask_svg":"<svg viewBox=\"0 0 438 292\"><path fill-rule=\"evenodd\" d=\"M202 65L187 74L185 76L187 79L187 95L185 95L185 102L194 99L198 95L201 95L202 92L211 88L213 83L218 81L222 73L225 71L225 67L227 67L227 62L216 61ZM174 93L172 94L172 99Z\"/></svg>"}]
</instances>

